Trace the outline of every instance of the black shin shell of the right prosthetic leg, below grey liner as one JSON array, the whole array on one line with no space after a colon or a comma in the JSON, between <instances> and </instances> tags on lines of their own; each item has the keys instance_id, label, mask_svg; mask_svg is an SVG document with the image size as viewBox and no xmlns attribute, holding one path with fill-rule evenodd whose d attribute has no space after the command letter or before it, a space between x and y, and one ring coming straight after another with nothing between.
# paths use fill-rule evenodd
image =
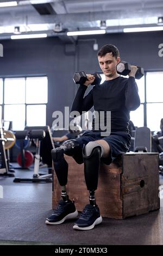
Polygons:
<instances>
[{"instance_id":1,"label":"black shin shell of the right prosthetic leg, below grey liner","mask_svg":"<svg viewBox=\"0 0 163 256\"><path fill-rule=\"evenodd\" d=\"M87 190L97 190L100 159L101 147L93 148L89 156L85 155L85 148L83 149L84 175Z\"/></svg>"}]
</instances>

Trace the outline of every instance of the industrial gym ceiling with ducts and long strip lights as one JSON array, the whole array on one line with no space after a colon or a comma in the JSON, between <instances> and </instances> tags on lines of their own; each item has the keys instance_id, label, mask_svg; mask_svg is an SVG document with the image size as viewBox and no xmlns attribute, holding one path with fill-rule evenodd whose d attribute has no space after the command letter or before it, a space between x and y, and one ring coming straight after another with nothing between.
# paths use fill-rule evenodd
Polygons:
<instances>
[{"instance_id":1,"label":"industrial gym ceiling with ducts and long strip lights","mask_svg":"<svg viewBox=\"0 0 163 256\"><path fill-rule=\"evenodd\" d=\"M4 2L16 5L1 7ZM162 17L162 0L0 0L0 40L29 33L62 38L72 31L119 33L124 28L159 27Z\"/></svg>"}]
</instances>

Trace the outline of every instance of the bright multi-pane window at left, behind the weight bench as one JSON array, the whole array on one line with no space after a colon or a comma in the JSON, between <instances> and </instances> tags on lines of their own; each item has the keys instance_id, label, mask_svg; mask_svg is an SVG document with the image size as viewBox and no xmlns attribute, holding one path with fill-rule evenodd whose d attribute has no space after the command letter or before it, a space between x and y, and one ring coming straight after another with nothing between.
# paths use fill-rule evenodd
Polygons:
<instances>
[{"instance_id":1,"label":"bright multi-pane window at left, behind the weight bench","mask_svg":"<svg viewBox=\"0 0 163 256\"><path fill-rule=\"evenodd\" d=\"M0 117L12 121L13 130L46 125L46 76L0 78L0 92Z\"/></svg>"}]
</instances>

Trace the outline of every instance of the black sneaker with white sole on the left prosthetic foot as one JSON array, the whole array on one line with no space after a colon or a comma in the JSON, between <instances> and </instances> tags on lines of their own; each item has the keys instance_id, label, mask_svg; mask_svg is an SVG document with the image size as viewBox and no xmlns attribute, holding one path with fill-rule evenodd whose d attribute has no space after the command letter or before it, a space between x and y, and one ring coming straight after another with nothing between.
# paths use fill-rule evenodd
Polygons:
<instances>
[{"instance_id":1,"label":"black sneaker with white sole on the left prosthetic foot","mask_svg":"<svg viewBox=\"0 0 163 256\"><path fill-rule=\"evenodd\" d=\"M76 218L77 216L78 211L71 200L68 200L68 202L60 200L57 209L55 209L53 214L46 219L45 223L51 225L61 224L65 220L70 220L71 218Z\"/></svg>"}]
</instances>

